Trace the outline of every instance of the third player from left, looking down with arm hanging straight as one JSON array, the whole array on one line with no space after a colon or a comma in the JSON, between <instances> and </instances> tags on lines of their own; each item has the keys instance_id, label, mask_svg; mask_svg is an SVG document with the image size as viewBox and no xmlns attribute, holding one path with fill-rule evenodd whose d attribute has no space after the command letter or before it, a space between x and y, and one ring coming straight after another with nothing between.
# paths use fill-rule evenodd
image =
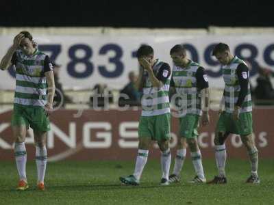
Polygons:
<instances>
[{"instance_id":1,"label":"third player from left, looking down with arm hanging straight","mask_svg":"<svg viewBox=\"0 0 274 205\"><path fill-rule=\"evenodd\" d=\"M199 120L206 126L210 122L208 114L209 91L205 69L188 59L184 46L177 44L170 51L173 59L171 86L175 87L178 100L179 140L173 174L170 182L179 182L179 174L186 157L186 142L190 148L196 176L190 182L206 182L201 163L201 152L197 143ZM203 102L203 104L202 104ZM202 107L203 105L203 107ZM203 111L202 111L203 109Z\"/></svg>"}]
</instances>

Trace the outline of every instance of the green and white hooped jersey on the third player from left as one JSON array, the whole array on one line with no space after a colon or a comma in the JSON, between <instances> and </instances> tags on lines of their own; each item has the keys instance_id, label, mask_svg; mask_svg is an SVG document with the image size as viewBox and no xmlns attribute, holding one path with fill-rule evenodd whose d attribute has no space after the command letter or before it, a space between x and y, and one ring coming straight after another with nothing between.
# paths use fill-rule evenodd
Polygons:
<instances>
[{"instance_id":1,"label":"green and white hooped jersey on the third player from left","mask_svg":"<svg viewBox=\"0 0 274 205\"><path fill-rule=\"evenodd\" d=\"M172 77L176 89L176 98L179 99L178 115L201 115L201 92L197 89L196 72L201 67L190 61L186 68L173 66ZM174 97L174 96L173 96Z\"/></svg>"}]
</instances>

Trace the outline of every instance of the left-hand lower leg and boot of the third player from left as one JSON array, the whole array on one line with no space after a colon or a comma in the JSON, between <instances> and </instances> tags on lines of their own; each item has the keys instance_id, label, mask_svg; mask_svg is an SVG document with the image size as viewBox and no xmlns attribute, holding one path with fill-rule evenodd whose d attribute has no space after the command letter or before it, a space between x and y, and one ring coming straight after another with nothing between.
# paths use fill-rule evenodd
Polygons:
<instances>
[{"instance_id":1,"label":"left-hand lower leg and boot of the third player from left","mask_svg":"<svg viewBox=\"0 0 274 205\"><path fill-rule=\"evenodd\" d=\"M186 138L179 137L179 140L177 143L177 151L175 156L173 173L169 176L170 182L179 182L179 175L182 171L185 158L186 158Z\"/></svg>"}]
</instances>

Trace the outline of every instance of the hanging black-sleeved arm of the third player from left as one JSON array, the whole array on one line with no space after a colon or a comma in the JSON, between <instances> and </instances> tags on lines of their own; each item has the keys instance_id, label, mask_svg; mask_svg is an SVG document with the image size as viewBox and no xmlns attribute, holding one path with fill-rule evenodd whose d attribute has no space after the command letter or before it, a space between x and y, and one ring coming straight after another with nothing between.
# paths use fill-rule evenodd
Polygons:
<instances>
[{"instance_id":1,"label":"hanging black-sleeved arm of the third player from left","mask_svg":"<svg viewBox=\"0 0 274 205\"><path fill-rule=\"evenodd\" d=\"M209 124L210 117L209 117L209 105L210 105L210 92L209 92L209 85L208 85L208 76L206 71L203 67L199 67L196 72L196 80L197 80L197 89L201 90L201 105L203 114L201 116L202 125L205 126Z\"/></svg>"}]
</instances>

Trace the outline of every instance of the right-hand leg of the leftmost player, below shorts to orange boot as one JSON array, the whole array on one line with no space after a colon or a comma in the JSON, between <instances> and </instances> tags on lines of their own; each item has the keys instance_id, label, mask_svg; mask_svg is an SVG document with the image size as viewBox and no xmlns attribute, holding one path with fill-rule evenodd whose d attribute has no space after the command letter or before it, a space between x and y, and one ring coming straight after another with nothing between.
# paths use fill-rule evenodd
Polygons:
<instances>
[{"instance_id":1,"label":"right-hand leg of the leftmost player, below shorts to orange boot","mask_svg":"<svg viewBox=\"0 0 274 205\"><path fill-rule=\"evenodd\" d=\"M36 146L36 167L37 167L37 186L38 189L44 190L44 179L47 168L47 132L34 131L34 141Z\"/></svg>"}]
</instances>

